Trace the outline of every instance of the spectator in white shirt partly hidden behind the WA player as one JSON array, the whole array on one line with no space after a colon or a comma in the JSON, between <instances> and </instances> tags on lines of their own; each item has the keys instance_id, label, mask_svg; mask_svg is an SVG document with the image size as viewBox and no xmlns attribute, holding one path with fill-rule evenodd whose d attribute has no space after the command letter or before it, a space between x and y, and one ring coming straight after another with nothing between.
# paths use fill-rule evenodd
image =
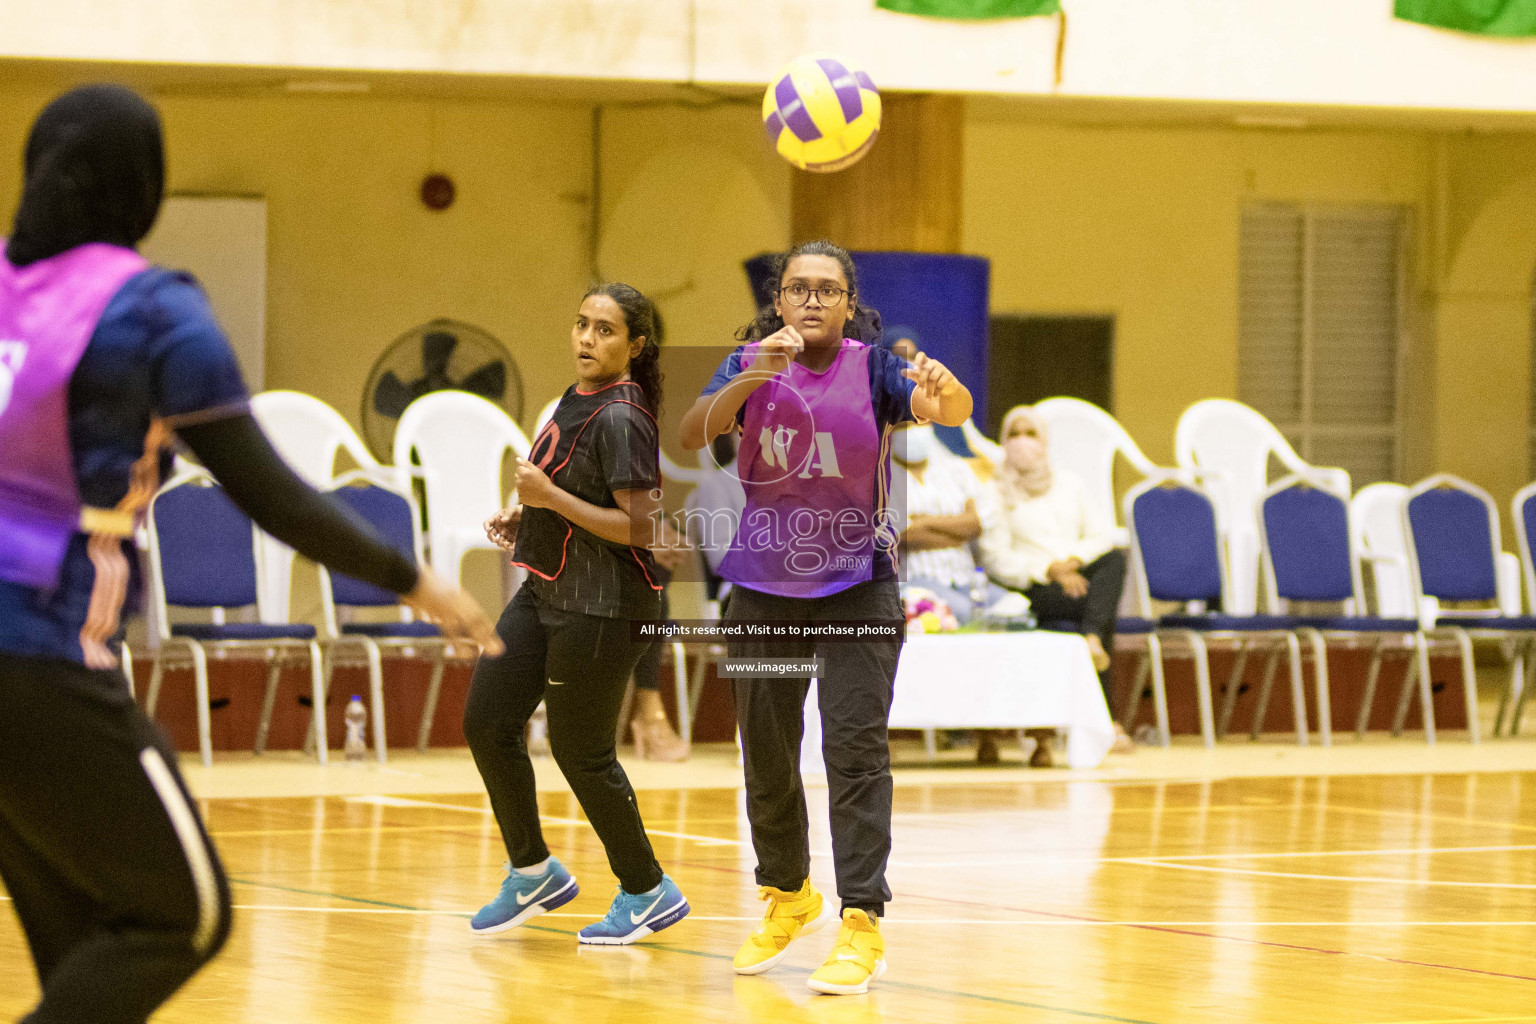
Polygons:
<instances>
[{"instance_id":1,"label":"spectator in white shirt partly hidden behind the WA player","mask_svg":"<svg viewBox=\"0 0 1536 1024\"><path fill-rule=\"evenodd\" d=\"M995 519L995 502L965 459L949 454L928 424L891 434L891 504L906 513L902 545L909 585L934 591L955 619L971 617L975 559L971 543ZM988 583L988 606L1008 591Z\"/></svg>"}]
</instances>

